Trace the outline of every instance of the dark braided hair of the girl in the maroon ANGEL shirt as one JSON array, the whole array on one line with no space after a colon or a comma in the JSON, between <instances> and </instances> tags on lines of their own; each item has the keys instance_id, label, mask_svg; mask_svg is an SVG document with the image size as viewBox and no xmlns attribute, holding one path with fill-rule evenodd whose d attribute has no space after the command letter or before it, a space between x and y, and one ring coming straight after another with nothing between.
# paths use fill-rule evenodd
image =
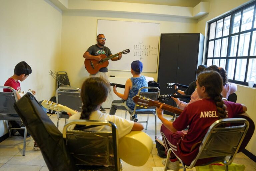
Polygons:
<instances>
[{"instance_id":1,"label":"dark braided hair of the girl in the maroon ANGEL shirt","mask_svg":"<svg viewBox=\"0 0 256 171\"><path fill-rule=\"evenodd\" d=\"M223 87L221 75L216 71L205 71L199 74L197 82L200 86L205 87L205 91L209 97L214 100L217 106L217 114L219 119L226 118L226 106L224 105L221 95Z\"/></svg>"}]
</instances>

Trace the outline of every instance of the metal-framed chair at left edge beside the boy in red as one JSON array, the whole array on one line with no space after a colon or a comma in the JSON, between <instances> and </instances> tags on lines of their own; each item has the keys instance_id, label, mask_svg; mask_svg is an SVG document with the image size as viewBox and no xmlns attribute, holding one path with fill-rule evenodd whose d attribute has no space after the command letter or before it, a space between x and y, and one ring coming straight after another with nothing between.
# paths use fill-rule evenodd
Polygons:
<instances>
[{"instance_id":1,"label":"metal-framed chair at left edge beside the boy in red","mask_svg":"<svg viewBox=\"0 0 256 171\"><path fill-rule=\"evenodd\" d=\"M0 92L0 120L6 120L9 137L11 137L11 129L16 129L16 130L24 129L22 156L25 156L27 128L25 126L20 128L10 127L8 123L9 120L13 120L13 121L21 120L16 110L13 107L14 103L18 100L16 91L10 86L0 86L0 88L8 88L12 90L12 92Z\"/></svg>"}]
</instances>

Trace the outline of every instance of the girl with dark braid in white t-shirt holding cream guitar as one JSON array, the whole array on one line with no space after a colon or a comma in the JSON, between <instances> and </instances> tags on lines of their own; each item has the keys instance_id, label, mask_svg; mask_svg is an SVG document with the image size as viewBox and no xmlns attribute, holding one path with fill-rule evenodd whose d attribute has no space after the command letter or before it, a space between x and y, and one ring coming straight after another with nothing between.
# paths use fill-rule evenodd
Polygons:
<instances>
[{"instance_id":1,"label":"girl with dark braid in white t-shirt holding cream guitar","mask_svg":"<svg viewBox=\"0 0 256 171\"><path fill-rule=\"evenodd\" d=\"M102 113L99 109L110 92L110 85L100 77L90 77L86 79L81 88L82 112L72 115L68 120L87 119L87 120L108 120L116 124L119 138L130 133L130 131L141 131L144 129L141 123L126 120L116 115ZM74 129L71 125L69 129ZM105 131L109 126L97 126L86 130Z\"/></svg>"}]
</instances>

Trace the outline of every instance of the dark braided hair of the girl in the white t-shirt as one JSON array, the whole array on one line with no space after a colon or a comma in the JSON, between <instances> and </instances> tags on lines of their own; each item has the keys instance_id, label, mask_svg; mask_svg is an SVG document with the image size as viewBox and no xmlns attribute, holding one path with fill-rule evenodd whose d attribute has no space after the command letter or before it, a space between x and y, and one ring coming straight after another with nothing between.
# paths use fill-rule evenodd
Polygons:
<instances>
[{"instance_id":1,"label":"dark braided hair of the girl in the white t-shirt","mask_svg":"<svg viewBox=\"0 0 256 171\"><path fill-rule=\"evenodd\" d=\"M83 111L80 119L89 119L90 114L106 100L109 93L110 85L105 79L99 77L86 79L81 88Z\"/></svg>"}]
</instances>

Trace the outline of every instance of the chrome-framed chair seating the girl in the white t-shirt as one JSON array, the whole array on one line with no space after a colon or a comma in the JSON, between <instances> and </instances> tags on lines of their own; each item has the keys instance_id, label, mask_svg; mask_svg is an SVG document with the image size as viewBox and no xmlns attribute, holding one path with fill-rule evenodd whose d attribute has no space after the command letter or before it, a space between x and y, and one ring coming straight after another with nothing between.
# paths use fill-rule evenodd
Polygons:
<instances>
[{"instance_id":1,"label":"chrome-framed chair seating the girl in the white t-shirt","mask_svg":"<svg viewBox=\"0 0 256 171\"><path fill-rule=\"evenodd\" d=\"M72 124L84 125L70 130ZM96 126L110 127L110 131L87 131ZM79 170L121 170L118 153L118 130L110 121L71 120L63 128L63 138ZM108 165L109 167L104 167Z\"/></svg>"}]
</instances>

